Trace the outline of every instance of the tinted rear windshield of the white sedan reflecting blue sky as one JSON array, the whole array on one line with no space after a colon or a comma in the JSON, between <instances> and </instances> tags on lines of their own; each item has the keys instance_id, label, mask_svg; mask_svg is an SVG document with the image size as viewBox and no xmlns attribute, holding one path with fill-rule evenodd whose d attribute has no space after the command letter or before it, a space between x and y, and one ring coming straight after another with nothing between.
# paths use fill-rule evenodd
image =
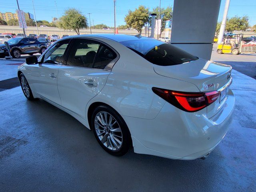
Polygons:
<instances>
[{"instance_id":1,"label":"tinted rear windshield of the white sedan reflecting blue sky","mask_svg":"<svg viewBox=\"0 0 256 192\"><path fill-rule=\"evenodd\" d=\"M178 65L198 59L180 48L158 40L133 40L120 43L149 62L160 66Z\"/></svg>"}]
</instances>

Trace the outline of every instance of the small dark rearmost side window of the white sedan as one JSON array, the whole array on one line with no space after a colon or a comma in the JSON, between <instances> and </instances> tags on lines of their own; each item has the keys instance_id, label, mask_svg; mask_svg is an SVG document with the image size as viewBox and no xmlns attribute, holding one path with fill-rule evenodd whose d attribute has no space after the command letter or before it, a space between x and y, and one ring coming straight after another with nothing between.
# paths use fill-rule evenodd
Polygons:
<instances>
[{"instance_id":1,"label":"small dark rearmost side window of the white sedan","mask_svg":"<svg viewBox=\"0 0 256 192\"><path fill-rule=\"evenodd\" d=\"M93 68L104 69L114 58L116 58L116 53L102 44L96 56Z\"/></svg>"}]
</instances>

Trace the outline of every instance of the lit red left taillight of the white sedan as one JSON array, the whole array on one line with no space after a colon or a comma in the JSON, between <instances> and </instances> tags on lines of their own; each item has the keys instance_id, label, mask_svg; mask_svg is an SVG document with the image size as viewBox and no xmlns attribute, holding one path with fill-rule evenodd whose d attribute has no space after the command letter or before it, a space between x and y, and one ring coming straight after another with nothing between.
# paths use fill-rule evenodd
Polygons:
<instances>
[{"instance_id":1,"label":"lit red left taillight of the white sedan","mask_svg":"<svg viewBox=\"0 0 256 192\"><path fill-rule=\"evenodd\" d=\"M216 101L220 96L219 91L190 93L155 87L152 88L152 91L170 104L187 112L201 110Z\"/></svg>"}]
</instances>

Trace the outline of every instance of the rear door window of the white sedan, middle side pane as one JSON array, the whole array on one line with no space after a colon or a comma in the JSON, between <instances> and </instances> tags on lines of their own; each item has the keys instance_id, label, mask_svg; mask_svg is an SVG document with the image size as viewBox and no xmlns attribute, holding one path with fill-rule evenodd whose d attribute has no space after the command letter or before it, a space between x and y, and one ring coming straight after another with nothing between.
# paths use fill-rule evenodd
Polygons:
<instances>
[{"instance_id":1,"label":"rear door window of the white sedan, middle side pane","mask_svg":"<svg viewBox=\"0 0 256 192\"><path fill-rule=\"evenodd\" d=\"M67 65L92 67L100 43L87 39L76 39L68 56Z\"/></svg>"}]
</instances>

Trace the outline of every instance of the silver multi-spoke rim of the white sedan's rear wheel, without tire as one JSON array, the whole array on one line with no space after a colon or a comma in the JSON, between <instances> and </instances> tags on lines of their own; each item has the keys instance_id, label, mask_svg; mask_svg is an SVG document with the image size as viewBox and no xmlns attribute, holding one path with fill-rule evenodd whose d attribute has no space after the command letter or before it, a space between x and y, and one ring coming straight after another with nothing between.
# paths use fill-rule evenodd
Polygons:
<instances>
[{"instance_id":1,"label":"silver multi-spoke rim of the white sedan's rear wheel, without tire","mask_svg":"<svg viewBox=\"0 0 256 192\"><path fill-rule=\"evenodd\" d=\"M96 134L102 144L113 151L122 146L122 130L116 119L108 112L98 112L94 119Z\"/></svg>"}]
</instances>

